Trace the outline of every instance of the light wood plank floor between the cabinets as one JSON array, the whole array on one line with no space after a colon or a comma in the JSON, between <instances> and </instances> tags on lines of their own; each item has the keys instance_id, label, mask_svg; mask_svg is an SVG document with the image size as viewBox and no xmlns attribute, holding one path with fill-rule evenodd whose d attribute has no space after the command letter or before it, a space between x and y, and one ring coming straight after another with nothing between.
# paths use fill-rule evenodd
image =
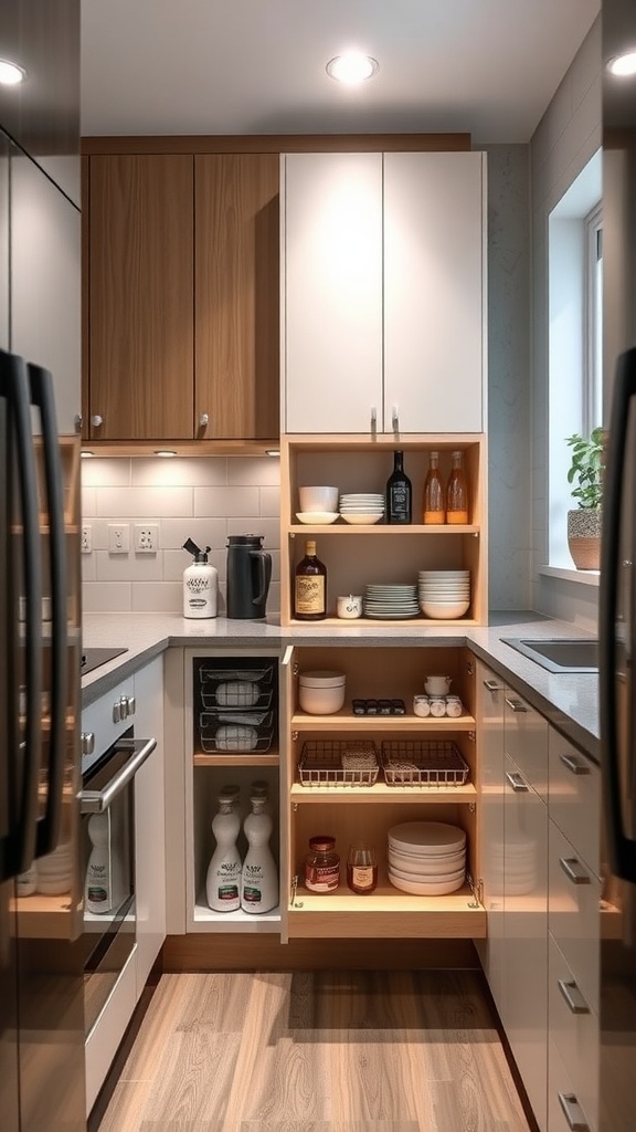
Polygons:
<instances>
[{"instance_id":1,"label":"light wood plank floor between the cabinets","mask_svg":"<svg viewBox=\"0 0 636 1132\"><path fill-rule=\"evenodd\" d=\"M100 1132L528 1132L473 971L164 975Z\"/></svg>"}]
</instances>

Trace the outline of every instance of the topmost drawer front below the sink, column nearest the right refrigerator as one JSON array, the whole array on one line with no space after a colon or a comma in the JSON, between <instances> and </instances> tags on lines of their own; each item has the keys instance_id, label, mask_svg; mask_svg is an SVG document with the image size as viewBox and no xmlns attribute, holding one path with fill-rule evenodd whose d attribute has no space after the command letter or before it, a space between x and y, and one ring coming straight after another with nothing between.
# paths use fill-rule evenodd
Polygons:
<instances>
[{"instance_id":1,"label":"topmost drawer front below the sink, column nearest the right refrigerator","mask_svg":"<svg viewBox=\"0 0 636 1132\"><path fill-rule=\"evenodd\" d=\"M599 872L601 773L571 743L550 728L550 817L587 864Z\"/></svg>"}]
</instances>

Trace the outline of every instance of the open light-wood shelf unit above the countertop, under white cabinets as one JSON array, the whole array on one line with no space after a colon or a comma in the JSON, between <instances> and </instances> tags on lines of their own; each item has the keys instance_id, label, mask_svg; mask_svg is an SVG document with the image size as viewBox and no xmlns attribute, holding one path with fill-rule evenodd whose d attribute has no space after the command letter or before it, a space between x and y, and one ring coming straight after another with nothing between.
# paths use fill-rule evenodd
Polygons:
<instances>
[{"instance_id":1,"label":"open light-wood shelf unit above the countertop, under white cabinets","mask_svg":"<svg viewBox=\"0 0 636 1132\"><path fill-rule=\"evenodd\" d=\"M341 492L384 492L393 470L393 453L404 451L413 489L413 523L303 525L298 489L332 484ZM465 525L424 525L421 507L429 455L439 452L442 479L450 471L450 453L461 449L470 491ZM304 625L293 616L294 571L304 554L304 540L315 539L318 558L327 567L327 617L320 625L340 625L336 597L364 593L371 583L418 583L421 569L469 569L471 606L456 620L435 620L423 614L404 620L362 617L356 627L395 625L484 625L488 619L487 453L481 434L393 436L284 436L281 445L281 623ZM398 539L398 551L395 539ZM351 624L351 623L347 623Z\"/></svg>"}]
</instances>

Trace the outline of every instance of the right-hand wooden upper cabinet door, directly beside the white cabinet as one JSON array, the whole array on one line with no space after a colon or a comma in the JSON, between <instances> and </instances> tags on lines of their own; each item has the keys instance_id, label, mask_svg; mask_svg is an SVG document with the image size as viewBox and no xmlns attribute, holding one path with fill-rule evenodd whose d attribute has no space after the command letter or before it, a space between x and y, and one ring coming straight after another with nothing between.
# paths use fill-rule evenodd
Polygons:
<instances>
[{"instance_id":1,"label":"right-hand wooden upper cabinet door, directly beside the white cabinet","mask_svg":"<svg viewBox=\"0 0 636 1132\"><path fill-rule=\"evenodd\" d=\"M276 154L195 158L195 415L206 439L278 436Z\"/></svg>"}]
</instances>

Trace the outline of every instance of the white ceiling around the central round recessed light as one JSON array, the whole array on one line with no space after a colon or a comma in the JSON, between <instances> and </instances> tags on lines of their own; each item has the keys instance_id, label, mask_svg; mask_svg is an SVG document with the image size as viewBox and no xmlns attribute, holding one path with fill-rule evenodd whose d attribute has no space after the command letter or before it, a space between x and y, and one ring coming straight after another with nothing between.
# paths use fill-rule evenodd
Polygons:
<instances>
[{"instance_id":1,"label":"white ceiling around the central round recessed light","mask_svg":"<svg viewBox=\"0 0 636 1132\"><path fill-rule=\"evenodd\" d=\"M81 0L81 132L528 142L600 0ZM356 48L378 75L325 74Z\"/></svg>"}]
</instances>

